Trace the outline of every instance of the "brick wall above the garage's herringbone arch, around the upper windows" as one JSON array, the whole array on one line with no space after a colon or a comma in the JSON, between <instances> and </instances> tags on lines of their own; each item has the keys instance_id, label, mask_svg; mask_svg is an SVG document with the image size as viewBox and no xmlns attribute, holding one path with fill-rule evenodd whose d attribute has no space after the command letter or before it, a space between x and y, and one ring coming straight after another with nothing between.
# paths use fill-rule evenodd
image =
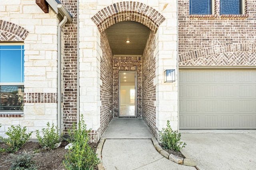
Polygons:
<instances>
[{"instance_id":1,"label":"brick wall above the garage's herringbone arch, around the upper windows","mask_svg":"<svg viewBox=\"0 0 256 170\"><path fill-rule=\"evenodd\" d=\"M189 16L189 0L178 0L180 54L229 44L256 43L256 0L246 0L245 15L220 16L219 8L220 0L216 0L214 15Z\"/></svg>"}]
</instances>

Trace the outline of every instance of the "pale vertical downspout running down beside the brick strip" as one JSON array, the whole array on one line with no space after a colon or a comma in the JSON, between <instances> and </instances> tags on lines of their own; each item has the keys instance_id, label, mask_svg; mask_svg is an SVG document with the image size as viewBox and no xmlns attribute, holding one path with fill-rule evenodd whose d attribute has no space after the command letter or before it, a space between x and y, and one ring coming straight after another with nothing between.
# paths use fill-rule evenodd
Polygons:
<instances>
[{"instance_id":1,"label":"pale vertical downspout running down beside the brick strip","mask_svg":"<svg viewBox=\"0 0 256 170\"><path fill-rule=\"evenodd\" d=\"M57 59L58 59L58 66L57 66L57 94L58 94L58 103L57 103L57 124L59 129L59 135L61 135L61 28L62 26L68 21L66 16L63 17L63 20L60 21L58 25L58 47L57 47Z\"/></svg>"}]
</instances>

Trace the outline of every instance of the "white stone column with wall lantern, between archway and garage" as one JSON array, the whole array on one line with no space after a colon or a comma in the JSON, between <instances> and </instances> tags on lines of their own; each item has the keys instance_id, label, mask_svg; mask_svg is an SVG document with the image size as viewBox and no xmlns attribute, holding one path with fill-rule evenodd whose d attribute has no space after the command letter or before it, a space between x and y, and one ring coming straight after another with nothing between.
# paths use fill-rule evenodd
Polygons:
<instances>
[{"instance_id":1,"label":"white stone column with wall lantern, between archway and garage","mask_svg":"<svg viewBox=\"0 0 256 170\"><path fill-rule=\"evenodd\" d=\"M156 33L156 128L162 130L167 120L173 130L178 129L178 80L177 80L177 3L166 4L159 0L161 14L166 20ZM164 83L164 70L175 69L176 81Z\"/></svg>"}]
</instances>

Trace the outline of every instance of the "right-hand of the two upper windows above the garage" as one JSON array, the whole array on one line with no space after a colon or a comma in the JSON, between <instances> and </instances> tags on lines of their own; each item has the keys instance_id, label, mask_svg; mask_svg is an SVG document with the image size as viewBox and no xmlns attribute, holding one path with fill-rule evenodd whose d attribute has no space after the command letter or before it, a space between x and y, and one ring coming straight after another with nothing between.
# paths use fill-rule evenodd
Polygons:
<instances>
[{"instance_id":1,"label":"right-hand of the two upper windows above the garage","mask_svg":"<svg viewBox=\"0 0 256 170\"><path fill-rule=\"evenodd\" d=\"M220 0L220 15L223 14L243 14L242 0Z\"/></svg>"}]
</instances>

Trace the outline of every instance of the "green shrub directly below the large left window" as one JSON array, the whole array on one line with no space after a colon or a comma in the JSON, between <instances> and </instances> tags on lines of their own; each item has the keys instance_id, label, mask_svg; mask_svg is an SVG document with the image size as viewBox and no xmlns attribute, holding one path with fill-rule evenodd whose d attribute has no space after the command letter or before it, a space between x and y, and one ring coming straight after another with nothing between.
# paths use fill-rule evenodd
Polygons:
<instances>
[{"instance_id":1,"label":"green shrub directly below the large left window","mask_svg":"<svg viewBox=\"0 0 256 170\"><path fill-rule=\"evenodd\" d=\"M0 137L0 139L2 139L8 146L6 149L7 152L15 152L19 150L30 139L32 132L26 133L26 131L27 128L21 128L20 125L12 125L11 127L8 127L8 131L5 134L9 137Z\"/></svg>"}]
</instances>

